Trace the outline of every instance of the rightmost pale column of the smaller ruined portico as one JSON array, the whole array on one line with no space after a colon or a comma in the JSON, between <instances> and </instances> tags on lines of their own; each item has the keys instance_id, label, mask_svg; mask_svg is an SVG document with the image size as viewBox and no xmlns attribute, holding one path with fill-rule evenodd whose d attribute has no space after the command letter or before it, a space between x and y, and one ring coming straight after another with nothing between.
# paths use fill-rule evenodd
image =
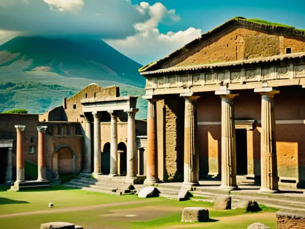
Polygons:
<instances>
[{"instance_id":1,"label":"rightmost pale column of the smaller ruined portico","mask_svg":"<svg viewBox=\"0 0 305 229\"><path fill-rule=\"evenodd\" d=\"M135 114L139 111L136 108L124 110L127 112L127 175L125 184L137 184L137 149L135 141Z\"/></svg>"}]
</instances>

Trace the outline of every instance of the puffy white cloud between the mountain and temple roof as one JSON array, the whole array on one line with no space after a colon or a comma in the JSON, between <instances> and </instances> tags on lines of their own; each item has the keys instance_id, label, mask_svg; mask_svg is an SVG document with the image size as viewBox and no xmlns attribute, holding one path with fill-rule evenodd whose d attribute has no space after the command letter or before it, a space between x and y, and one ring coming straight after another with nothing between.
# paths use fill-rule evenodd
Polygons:
<instances>
[{"instance_id":1,"label":"puffy white cloud between the mountain and temple roof","mask_svg":"<svg viewBox=\"0 0 305 229\"><path fill-rule=\"evenodd\" d=\"M174 22L180 20L174 9L167 10L161 3L149 5L147 2L141 2L137 9L142 14L148 12L150 18L134 25L135 35L127 36L125 39L104 39L104 41L126 56L138 56L136 61L141 64L145 64L141 61L142 57L163 58L201 36L201 29L193 27L184 31L160 33L157 27L164 19L169 17Z\"/></svg>"}]
</instances>

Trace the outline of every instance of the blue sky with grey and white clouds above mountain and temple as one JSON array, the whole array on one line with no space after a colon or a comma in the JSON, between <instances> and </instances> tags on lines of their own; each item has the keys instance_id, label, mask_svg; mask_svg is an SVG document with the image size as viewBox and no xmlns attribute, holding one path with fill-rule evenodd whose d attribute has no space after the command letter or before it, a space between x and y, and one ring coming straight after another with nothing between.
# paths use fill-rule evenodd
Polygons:
<instances>
[{"instance_id":1,"label":"blue sky with grey and white clouds above mountain and temple","mask_svg":"<svg viewBox=\"0 0 305 229\"><path fill-rule=\"evenodd\" d=\"M305 29L304 0L0 0L0 44L17 35L89 36L148 64L242 16Z\"/></svg>"}]
</instances>

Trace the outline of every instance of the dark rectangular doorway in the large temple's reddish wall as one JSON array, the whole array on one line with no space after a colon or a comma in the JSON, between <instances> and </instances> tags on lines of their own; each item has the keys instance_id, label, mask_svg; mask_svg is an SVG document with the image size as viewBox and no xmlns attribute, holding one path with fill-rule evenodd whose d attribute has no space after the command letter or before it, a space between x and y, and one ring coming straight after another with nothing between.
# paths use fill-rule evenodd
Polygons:
<instances>
[{"instance_id":1,"label":"dark rectangular doorway in the large temple's reddish wall","mask_svg":"<svg viewBox=\"0 0 305 229\"><path fill-rule=\"evenodd\" d=\"M247 130L235 129L236 140L236 173L237 175L248 174L247 158Z\"/></svg>"}]
</instances>

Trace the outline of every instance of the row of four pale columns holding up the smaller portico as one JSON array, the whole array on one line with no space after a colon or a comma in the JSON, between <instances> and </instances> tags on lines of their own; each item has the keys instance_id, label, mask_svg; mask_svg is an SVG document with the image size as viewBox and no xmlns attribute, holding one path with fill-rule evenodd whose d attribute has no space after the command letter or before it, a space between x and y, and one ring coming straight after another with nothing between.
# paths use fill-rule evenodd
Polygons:
<instances>
[{"instance_id":1,"label":"row of four pale columns holding up the smaller portico","mask_svg":"<svg viewBox=\"0 0 305 229\"><path fill-rule=\"evenodd\" d=\"M111 117L110 124L110 173L109 176L118 175L118 157L117 157L117 111L107 111ZM124 110L128 115L127 120L127 175L125 183L134 184L137 178L137 150L135 141L135 114L138 112L136 108ZM93 140L94 140L94 168L93 174L101 173L101 113L92 112L93 115ZM84 153L84 172L91 171L91 129L90 118L83 115L85 119L85 153Z\"/></svg>"}]
</instances>

